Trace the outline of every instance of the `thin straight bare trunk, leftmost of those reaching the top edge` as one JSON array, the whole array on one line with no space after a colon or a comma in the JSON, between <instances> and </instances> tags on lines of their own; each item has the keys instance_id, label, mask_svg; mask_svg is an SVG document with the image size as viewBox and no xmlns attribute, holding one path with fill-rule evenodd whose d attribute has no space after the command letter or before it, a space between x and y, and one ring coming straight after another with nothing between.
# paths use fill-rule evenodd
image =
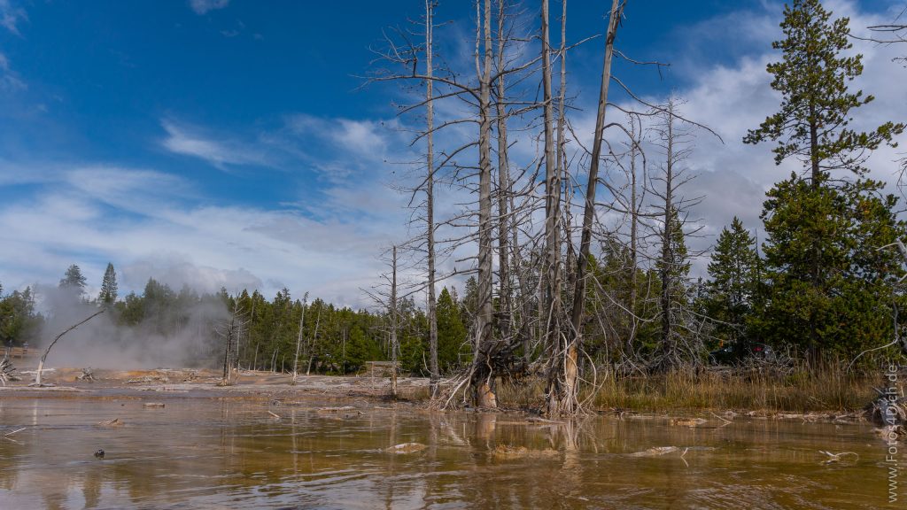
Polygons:
<instances>
[{"instance_id":1,"label":"thin straight bare trunk, leftmost of those reaching the top edge","mask_svg":"<svg viewBox=\"0 0 907 510\"><path fill-rule=\"evenodd\" d=\"M438 380L441 378L438 370L438 304L434 297L434 68L432 57L434 52L434 0L425 0L425 139L428 144L426 153L425 179L425 221L427 223L426 248L428 250L428 372L430 376L429 390L432 398L438 394Z\"/></svg>"}]
</instances>

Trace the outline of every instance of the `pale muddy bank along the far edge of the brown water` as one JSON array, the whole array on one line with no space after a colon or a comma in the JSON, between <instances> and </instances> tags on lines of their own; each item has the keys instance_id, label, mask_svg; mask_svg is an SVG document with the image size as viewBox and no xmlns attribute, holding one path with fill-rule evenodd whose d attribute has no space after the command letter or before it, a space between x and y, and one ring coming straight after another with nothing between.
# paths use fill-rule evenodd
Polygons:
<instances>
[{"instance_id":1,"label":"pale muddy bank along the far edge of the brown water","mask_svg":"<svg viewBox=\"0 0 907 510\"><path fill-rule=\"evenodd\" d=\"M220 386L217 371L194 368L154 368L147 370L93 369L91 380L81 368L52 368L44 372L49 387L29 387L34 372L21 370L23 380L0 387L5 398L110 398L130 397L143 400L167 397L243 398L268 400L276 405L293 402L326 401L356 403L357 407L382 407L391 402L389 378L341 376L299 376L296 385L291 375L243 370L235 384ZM398 404L425 407L427 378L399 378ZM153 397L152 397L153 396ZM505 403L506 404L506 403ZM474 409L473 409L474 410ZM786 412L766 409L675 408L653 410L622 407L590 407L600 415L625 419L666 419L678 427L723 426L738 418L802 421L805 423L858 423L867 421L863 411L842 412L828 409L812 412ZM503 407L503 413L532 415L532 406Z\"/></svg>"}]
</instances>

